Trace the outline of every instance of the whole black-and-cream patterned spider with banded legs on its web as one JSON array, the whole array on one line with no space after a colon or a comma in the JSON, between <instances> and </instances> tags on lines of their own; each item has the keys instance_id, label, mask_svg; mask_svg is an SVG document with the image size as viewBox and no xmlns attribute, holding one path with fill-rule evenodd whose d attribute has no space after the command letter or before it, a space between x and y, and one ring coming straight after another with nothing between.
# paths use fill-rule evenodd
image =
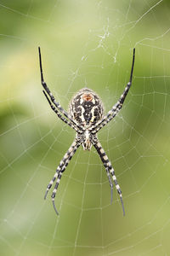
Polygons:
<instances>
[{"instance_id":1,"label":"whole black-and-cream patterned spider with banded legs on its web","mask_svg":"<svg viewBox=\"0 0 170 256\"><path fill-rule=\"evenodd\" d=\"M65 172L65 169L71 161L72 156L76 153L77 148L79 148L80 145L82 145L82 148L84 150L90 150L93 145L94 148L97 150L97 153L99 154L99 157L103 162L103 165L105 166L105 171L111 186L111 202L113 198L113 180L116 186L117 193L122 203L123 215L125 215L124 205L122 201L122 190L120 189L120 186L117 183L115 171L113 169L113 166L111 165L111 161L108 159L107 155L105 154L105 150L99 143L97 133L101 128L107 125L111 121L111 119L116 117L116 114L122 108L122 104L132 84L135 49L133 49L133 62L129 82L127 83L127 86L125 87L125 90L123 91L122 96L120 97L118 102L116 102L116 104L111 108L111 110L106 115L104 115L103 103L101 102L99 96L93 90L88 88L82 88L82 90L79 90L77 92L76 96L74 96L71 100L69 106L69 113L67 113L64 110L64 108L62 108L59 105L59 102L55 101L55 98L49 90L48 85L44 82L40 47L38 47L38 52L41 82L43 87L42 91L48 100L49 106L52 108L54 113L57 114L59 119L65 122L65 124L71 126L71 128L73 128L76 131L75 140L71 144L71 147L68 149L63 159L59 162L59 166L56 169L54 177L48 183L44 199L46 199L48 195L48 190L51 189L54 181L56 180L51 198L54 206L54 211L57 214L59 214L54 204L54 198L59 187L59 182L62 177L62 174L63 172Z\"/></svg>"}]
</instances>

